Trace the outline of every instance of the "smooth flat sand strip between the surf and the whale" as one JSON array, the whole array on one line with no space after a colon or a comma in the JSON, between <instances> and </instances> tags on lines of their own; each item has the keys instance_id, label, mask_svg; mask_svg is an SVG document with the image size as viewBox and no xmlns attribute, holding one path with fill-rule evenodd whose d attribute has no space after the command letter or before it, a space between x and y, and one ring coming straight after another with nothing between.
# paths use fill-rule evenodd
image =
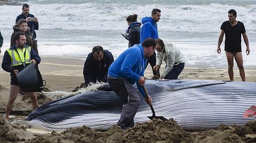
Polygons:
<instances>
[{"instance_id":1,"label":"smooth flat sand strip between the surf and the whale","mask_svg":"<svg viewBox=\"0 0 256 143\"><path fill-rule=\"evenodd\" d=\"M2 63L2 54L0 62ZM85 60L81 58L64 58L64 57L41 57L39 70L46 81L46 87L53 88L50 90L74 89L84 82L83 67ZM160 68L160 74L163 72L165 65ZM253 67L253 66L252 66ZM147 66L145 77L153 76L150 65ZM245 68L246 81L256 82L256 70ZM10 73L0 69L0 84L4 87L10 85ZM202 79L202 80L224 80L229 81L228 69L221 68L202 68L200 66L187 66L179 75L179 79ZM234 68L234 81L241 81L239 70ZM63 83L64 82L64 83ZM69 86L66 86L69 85ZM73 87L72 87L73 86Z\"/></svg>"}]
</instances>

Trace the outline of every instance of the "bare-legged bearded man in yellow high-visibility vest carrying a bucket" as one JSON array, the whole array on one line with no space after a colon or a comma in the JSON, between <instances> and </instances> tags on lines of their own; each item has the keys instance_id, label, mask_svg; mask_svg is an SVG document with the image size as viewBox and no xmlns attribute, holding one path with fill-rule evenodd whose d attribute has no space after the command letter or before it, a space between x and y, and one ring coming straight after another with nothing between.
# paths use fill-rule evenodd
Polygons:
<instances>
[{"instance_id":1,"label":"bare-legged bearded man in yellow high-visibility vest carrying a bucket","mask_svg":"<svg viewBox=\"0 0 256 143\"><path fill-rule=\"evenodd\" d=\"M26 45L26 36L23 32L17 32L14 35L14 41L15 44L4 52L2 62L3 70L11 73L10 96L6 104L6 120L9 120L12 105L20 91L16 75L31 62L33 62L34 65L38 65L41 62L41 58L33 48ZM33 110L36 109L38 107L37 94L35 92L28 93L28 96L32 102Z\"/></svg>"}]
</instances>

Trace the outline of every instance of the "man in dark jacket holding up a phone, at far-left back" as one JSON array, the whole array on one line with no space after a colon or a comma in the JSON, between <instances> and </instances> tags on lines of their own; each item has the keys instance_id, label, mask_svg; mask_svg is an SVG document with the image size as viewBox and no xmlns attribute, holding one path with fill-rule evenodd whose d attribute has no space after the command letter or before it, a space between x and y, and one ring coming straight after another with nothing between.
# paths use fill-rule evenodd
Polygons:
<instances>
[{"instance_id":1,"label":"man in dark jacket holding up a phone, at far-left back","mask_svg":"<svg viewBox=\"0 0 256 143\"><path fill-rule=\"evenodd\" d=\"M39 28L38 19L33 14L29 13L29 5L28 4L22 5L22 13L17 16L15 23L17 23L20 19L27 20L28 27L30 28L30 32L33 34L34 39L36 39L37 34L36 34L35 30L38 30L38 28Z\"/></svg>"}]
</instances>

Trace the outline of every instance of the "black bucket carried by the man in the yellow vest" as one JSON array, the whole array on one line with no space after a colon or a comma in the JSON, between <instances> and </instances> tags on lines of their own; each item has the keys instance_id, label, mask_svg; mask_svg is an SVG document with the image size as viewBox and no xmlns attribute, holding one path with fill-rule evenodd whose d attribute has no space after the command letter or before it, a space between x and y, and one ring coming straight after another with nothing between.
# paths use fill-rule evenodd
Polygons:
<instances>
[{"instance_id":1,"label":"black bucket carried by the man in the yellow vest","mask_svg":"<svg viewBox=\"0 0 256 143\"><path fill-rule=\"evenodd\" d=\"M20 89L23 92L42 92L44 90L45 84L44 80L41 76L40 71L37 66L34 66L33 63L26 66L23 70L21 70L17 75L18 83Z\"/></svg>"}]
</instances>

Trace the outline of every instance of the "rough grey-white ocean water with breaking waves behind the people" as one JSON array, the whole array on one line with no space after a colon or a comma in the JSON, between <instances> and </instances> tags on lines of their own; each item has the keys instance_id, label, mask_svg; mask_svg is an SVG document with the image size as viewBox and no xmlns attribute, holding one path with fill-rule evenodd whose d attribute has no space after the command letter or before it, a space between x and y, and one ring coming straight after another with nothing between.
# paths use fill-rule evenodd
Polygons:
<instances>
[{"instance_id":1,"label":"rough grey-white ocean water with breaking waves behind the people","mask_svg":"<svg viewBox=\"0 0 256 143\"><path fill-rule=\"evenodd\" d=\"M158 34L177 45L186 58L186 66L227 68L224 52L216 48L220 26L228 20L228 10L235 9L237 20L244 23L251 54L245 54L244 66L256 69L256 0L29 0L30 13L39 21L38 49L43 57L85 59L92 47L110 50L114 58L128 47L120 33L127 28L131 14L150 16L159 8ZM0 6L0 30L4 36L2 51L10 45L16 16L22 6ZM236 64L236 63L235 63ZM236 67L236 66L235 66Z\"/></svg>"}]
</instances>

